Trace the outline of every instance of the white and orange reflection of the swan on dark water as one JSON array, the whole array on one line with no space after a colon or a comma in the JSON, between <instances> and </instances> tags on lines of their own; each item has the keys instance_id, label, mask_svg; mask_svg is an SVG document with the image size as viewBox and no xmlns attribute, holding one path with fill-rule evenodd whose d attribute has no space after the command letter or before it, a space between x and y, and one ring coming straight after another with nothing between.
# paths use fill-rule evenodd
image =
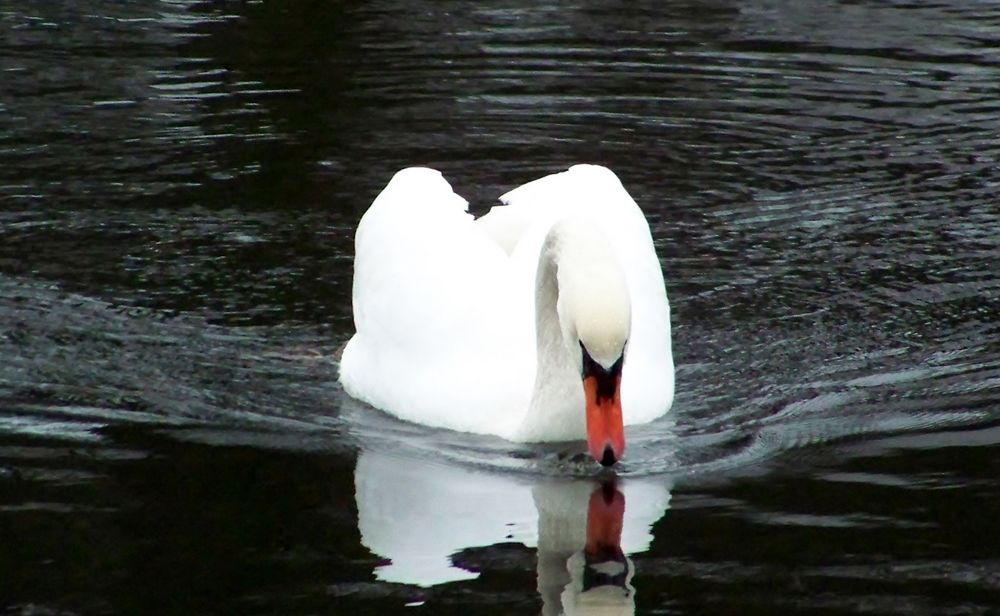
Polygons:
<instances>
[{"instance_id":1,"label":"white and orange reflection of the swan on dark water","mask_svg":"<svg viewBox=\"0 0 1000 616\"><path fill-rule=\"evenodd\" d=\"M644 552L670 505L663 478L531 478L364 451L355 471L361 542L388 559L379 580L423 587L469 580L452 556L521 543L537 548L543 613L635 609L628 554Z\"/></svg>"}]
</instances>

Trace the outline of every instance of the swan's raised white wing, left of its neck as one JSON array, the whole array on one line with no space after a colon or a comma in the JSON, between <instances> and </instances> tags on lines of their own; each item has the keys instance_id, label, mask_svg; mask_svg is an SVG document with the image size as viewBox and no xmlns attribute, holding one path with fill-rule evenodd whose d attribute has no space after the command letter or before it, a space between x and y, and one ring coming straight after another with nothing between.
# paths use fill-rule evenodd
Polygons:
<instances>
[{"instance_id":1,"label":"swan's raised white wing, left of its neck","mask_svg":"<svg viewBox=\"0 0 1000 616\"><path fill-rule=\"evenodd\" d=\"M438 171L425 168L400 171L372 203L355 237L357 331L340 381L403 419L497 433L482 422L517 418L488 406L530 395L531 376L522 373L533 365L499 369L530 332L518 336L523 328L506 316L506 253L466 208Z\"/></svg>"}]
</instances>

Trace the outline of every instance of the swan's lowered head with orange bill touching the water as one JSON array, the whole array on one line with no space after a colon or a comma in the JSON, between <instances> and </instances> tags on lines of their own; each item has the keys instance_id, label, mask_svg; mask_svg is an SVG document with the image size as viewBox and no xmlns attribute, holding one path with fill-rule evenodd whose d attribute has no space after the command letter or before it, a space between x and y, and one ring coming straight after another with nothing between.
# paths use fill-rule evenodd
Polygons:
<instances>
[{"instance_id":1,"label":"swan's lowered head with orange bill touching the water","mask_svg":"<svg viewBox=\"0 0 1000 616\"><path fill-rule=\"evenodd\" d=\"M611 466L625 451L621 380L632 320L628 286L596 225L559 227L559 321L583 381L588 449Z\"/></svg>"}]
</instances>

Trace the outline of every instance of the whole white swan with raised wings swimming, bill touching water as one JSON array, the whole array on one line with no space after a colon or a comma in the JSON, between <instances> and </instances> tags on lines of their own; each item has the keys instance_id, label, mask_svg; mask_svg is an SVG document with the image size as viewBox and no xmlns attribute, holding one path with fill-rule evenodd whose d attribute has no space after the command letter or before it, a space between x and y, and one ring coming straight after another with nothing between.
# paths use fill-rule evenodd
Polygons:
<instances>
[{"instance_id":1,"label":"whole white swan with raised wings swimming, bill touching water","mask_svg":"<svg viewBox=\"0 0 1000 616\"><path fill-rule=\"evenodd\" d=\"M355 235L348 395L428 426L587 441L673 401L670 306L645 216L609 169L575 165L475 219L439 171L397 172Z\"/></svg>"}]
</instances>

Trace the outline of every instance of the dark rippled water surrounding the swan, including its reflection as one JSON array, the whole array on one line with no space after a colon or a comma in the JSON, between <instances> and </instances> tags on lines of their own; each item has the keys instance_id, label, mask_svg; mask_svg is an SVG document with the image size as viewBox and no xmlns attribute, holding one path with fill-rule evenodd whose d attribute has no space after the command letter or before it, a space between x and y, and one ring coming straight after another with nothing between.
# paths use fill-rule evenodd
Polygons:
<instances>
[{"instance_id":1,"label":"dark rippled water surrounding the swan, including its reflection","mask_svg":"<svg viewBox=\"0 0 1000 616\"><path fill-rule=\"evenodd\" d=\"M1000 610L1000 5L521 5L0 5L3 613ZM574 162L674 314L617 483L346 399L391 174Z\"/></svg>"}]
</instances>

